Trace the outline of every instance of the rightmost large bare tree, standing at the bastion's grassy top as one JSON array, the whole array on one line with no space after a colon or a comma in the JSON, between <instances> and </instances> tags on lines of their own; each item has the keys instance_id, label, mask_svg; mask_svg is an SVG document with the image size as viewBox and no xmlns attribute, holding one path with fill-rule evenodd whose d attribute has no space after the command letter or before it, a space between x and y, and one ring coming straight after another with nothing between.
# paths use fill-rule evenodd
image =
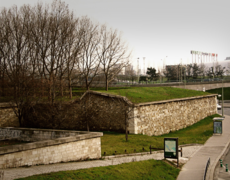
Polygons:
<instances>
[{"instance_id":1,"label":"rightmost large bare tree, standing at the bastion's grassy top","mask_svg":"<svg viewBox=\"0 0 230 180\"><path fill-rule=\"evenodd\" d=\"M122 70L129 65L131 52L128 52L128 46L121 39L117 30L107 30L104 25L101 27L101 44L97 48L97 53L101 61L101 69L105 75L106 91L108 91L109 82Z\"/></svg>"}]
</instances>

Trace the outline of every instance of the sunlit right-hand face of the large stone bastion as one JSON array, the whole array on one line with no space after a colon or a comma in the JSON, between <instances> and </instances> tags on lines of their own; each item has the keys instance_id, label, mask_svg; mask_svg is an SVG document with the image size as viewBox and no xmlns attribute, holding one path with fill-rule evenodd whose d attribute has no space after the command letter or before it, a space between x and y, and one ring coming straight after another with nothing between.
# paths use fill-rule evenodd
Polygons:
<instances>
[{"instance_id":1,"label":"sunlit right-hand face of the large stone bastion","mask_svg":"<svg viewBox=\"0 0 230 180\"><path fill-rule=\"evenodd\" d=\"M215 95L136 104L130 133L162 135L217 113Z\"/></svg>"}]
</instances>

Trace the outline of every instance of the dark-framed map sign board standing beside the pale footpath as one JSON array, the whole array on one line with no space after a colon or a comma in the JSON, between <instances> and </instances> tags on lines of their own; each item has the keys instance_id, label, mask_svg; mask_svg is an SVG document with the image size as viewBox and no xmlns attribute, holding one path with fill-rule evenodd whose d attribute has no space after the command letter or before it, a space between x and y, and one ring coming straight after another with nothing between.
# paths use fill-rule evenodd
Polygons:
<instances>
[{"instance_id":1,"label":"dark-framed map sign board standing beside the pale footpath","mask_svg":"<svg viewBox=\"0 0 230 180\"><path fill-rule=\"evenodd\" d=\"M164 157L178 158L178 138L164 138Z\"/></svg>"}]
</instances>

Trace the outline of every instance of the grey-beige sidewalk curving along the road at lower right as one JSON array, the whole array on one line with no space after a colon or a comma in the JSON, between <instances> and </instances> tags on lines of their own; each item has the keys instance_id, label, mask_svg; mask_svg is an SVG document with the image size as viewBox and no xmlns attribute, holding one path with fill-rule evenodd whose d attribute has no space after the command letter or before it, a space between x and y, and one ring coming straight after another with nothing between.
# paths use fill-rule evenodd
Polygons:
<instances>
[{"instance_id":1,"label":"grey-beige sidewalk curving along the road at lower right","mask_svg":"<svg viewBox=\"0 0 230 180\"><path fill-rule=\"evenodd\" d=\"M199 151L183 166L177 180L203 180L206 163L211 159L206 180L213 180L219 159L229 150L230 144L230 116L225 115L223 134L213 135Z\"/></svg>"}]
</instances>

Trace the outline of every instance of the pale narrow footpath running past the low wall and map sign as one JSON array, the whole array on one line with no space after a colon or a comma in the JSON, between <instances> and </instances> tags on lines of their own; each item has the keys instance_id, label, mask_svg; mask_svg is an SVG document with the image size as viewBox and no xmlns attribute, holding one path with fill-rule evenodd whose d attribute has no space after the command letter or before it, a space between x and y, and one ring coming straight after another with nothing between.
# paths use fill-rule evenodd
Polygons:
<instances>
[{"instance_id":1,"label":"pale narrow footpath running past the low wall and map sign","mask_svg":"<svg viewBox=\"0 0 230 180\"><path fill-rule=\"evenodd\" d=\"M194 145L183 147L183 157L180 158L180 163L186 163L189 158L191 158L196 151L198 151L203 145ZM40 165L40 166L31 166L29 168L11 168L4 169L4 180L12 180L16 178L23 178L32 175L58 172L58 171L67 171L67 170L78 170L86 169L92 167L100 166L110 166L117 165L122 163L134 162L134 161L143 161L148 159L161 160L164 159L164 154L162 151L153 152L153 154L147 155L135 155L135 156L126 156L126 157L117 157L105 160L94 160L94 161L83 161L83 162L71 162L71 163L59 163L52 165Z\"/></svg>"}]
</instances>

